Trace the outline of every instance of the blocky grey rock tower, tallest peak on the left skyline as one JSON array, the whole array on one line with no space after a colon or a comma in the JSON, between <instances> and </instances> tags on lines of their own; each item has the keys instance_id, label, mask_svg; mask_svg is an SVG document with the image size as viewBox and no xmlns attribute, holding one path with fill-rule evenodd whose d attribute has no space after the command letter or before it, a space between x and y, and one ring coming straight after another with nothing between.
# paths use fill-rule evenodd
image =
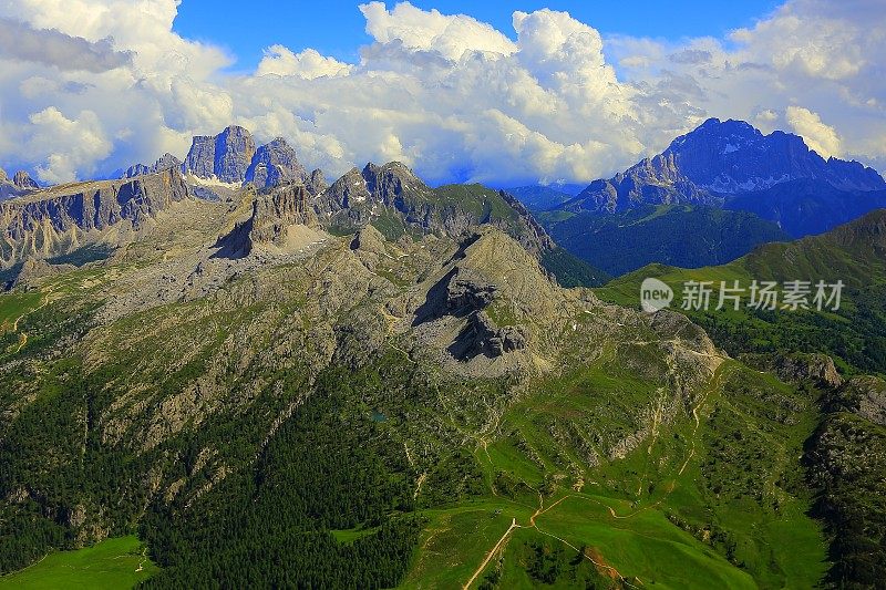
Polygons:
<instances>
[{"instance_id":1,"label":"blocky grey rock tower, tallest peak on the left skyline","mask_svg":"<svg viewBox=\"0 0 886 590\"><path fill-rule=\"evenodd\" d=\"M183 169L200 178L243 183L255 154L253 135L243 127L231 125L215 137L194 137Z\"/></svg>"}]
</instances>

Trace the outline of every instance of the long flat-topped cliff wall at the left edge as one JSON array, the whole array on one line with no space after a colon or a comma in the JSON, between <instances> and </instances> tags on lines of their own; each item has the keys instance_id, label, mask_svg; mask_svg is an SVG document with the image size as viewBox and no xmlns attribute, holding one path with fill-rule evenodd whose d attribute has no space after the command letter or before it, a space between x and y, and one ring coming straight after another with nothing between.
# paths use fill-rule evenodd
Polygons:
<instances>
[{"instance_id":1,"label":"long flat-topped cliff wall at the left edge","mask_svg":"<svg viewBox=\"0 0 886 590\"><path fill-rule=\"evenodd\" d=\"M83 235L119 224L142 228L189 196L177 169L131 180L84 183L0 204L0 263L76 248Z\"/></svg>"}]
</instances>

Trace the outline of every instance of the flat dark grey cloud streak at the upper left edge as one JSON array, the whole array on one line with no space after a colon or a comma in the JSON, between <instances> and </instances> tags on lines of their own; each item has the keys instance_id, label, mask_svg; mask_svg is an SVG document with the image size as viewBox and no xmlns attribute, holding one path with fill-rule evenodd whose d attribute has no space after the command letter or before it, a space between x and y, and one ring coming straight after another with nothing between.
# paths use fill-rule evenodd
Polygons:
<instances>
[{"instance_id":1,"label":"flat dark grey cloud streak at the upper left edge","mask_svg":"<svg viewBox=\"0 0 886 590\"><path fill-rule=\"evenodd\" d=\"M54 30L34 30L6 18L0 18L0 54L89 72L106 72L132 61L132 53L114 51L110 39L90 42Z\"/></svg>"}]
</instances>

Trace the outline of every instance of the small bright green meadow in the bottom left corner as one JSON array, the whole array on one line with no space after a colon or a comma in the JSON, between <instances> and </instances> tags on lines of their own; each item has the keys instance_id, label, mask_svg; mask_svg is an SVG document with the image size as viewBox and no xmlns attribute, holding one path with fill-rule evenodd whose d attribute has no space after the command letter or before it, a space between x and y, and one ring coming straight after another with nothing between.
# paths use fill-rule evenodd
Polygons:
<instances>
[{"instance_id":1,"label":"small bright green meadow in the bottom left corner","mask_svg":"<svg viewBox=\"0 0 886 590\"><path fill-rule=\"evenodd\" d=\"M121 537L76 551L50 553L18 573L0 577L0 588L132 588L156 571L136 537Z\"/></svg>"}]
</instances>

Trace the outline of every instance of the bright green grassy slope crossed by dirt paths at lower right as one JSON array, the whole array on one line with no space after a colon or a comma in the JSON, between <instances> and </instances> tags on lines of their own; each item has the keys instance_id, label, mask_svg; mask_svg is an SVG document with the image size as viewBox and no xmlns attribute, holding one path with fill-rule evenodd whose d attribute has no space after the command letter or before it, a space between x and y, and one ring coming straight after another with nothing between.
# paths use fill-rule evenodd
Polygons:
<instances>
[{"instance_id":1,"label":"bright green grassy slope crossed by dirt paths at lower right","mask_svg":"<svg viewBox=\"0 0 886 590\"><path fill-rule=\"evenodd\" d=\"M591 559L604 565L594 566L604 579L615 570L627 580L636 578L645 586L662 588L814 586L827 566L823 535L805 515L810 499L782 490L776 482L786 486L785 482L799 477L793 459L814 427L815 412L806 403L802 412L787 412L787 422L792 422L787 427L770 421L769 406L756 402L756 391L739 393L732 385L736 375L791 400L787 406L803 404L793 400L790 387L774 380L761 383L755 372L731 363L719 380L725 390L712 390L699 406L699 427L691 422L662 426L652 445L641 446L624 460L581 469L584 485L579 487L571 487L576 482L564 470L581 458L550 433L562 424L560 418L580 423L581 414L620 414L619 407L607 406L618 401L619 394L626 406L636 403L631 396L642 397L637 393L642 385L597 369L549 383L542 390L544 394L506 413L502 424L506 436L486 448L477 447L475 456L491 495L433 513L404 586L463 584L512 519L522 528L513 531L505 548L491 559L475 587L484 580L497 580L497 588L540 584L527 573L530 565L526 557L533 555L527 544L539 541L564 551L559 575L554 582L546 582L554 587L579 584L587 573L577 572L577 566L568 562ZM711 421L714 413L727 418ZM738 423L758 438L738 455L723 456L714 449L715 442L735 445L731 437ZM536 459L527 458L527 448ZM761 456L754 455L758 448L763 449ZM705 475L702 465L713 470L713 476ZM748 489L735 488L736 497L725 497L721 479L741 480ZM507 482L515 484L507 487ZM719 494L712 491L714 485ZM753 499L758 489L759 500ZM542 497L544 504L539 505Z\"/></svg>"}]
</instances>

